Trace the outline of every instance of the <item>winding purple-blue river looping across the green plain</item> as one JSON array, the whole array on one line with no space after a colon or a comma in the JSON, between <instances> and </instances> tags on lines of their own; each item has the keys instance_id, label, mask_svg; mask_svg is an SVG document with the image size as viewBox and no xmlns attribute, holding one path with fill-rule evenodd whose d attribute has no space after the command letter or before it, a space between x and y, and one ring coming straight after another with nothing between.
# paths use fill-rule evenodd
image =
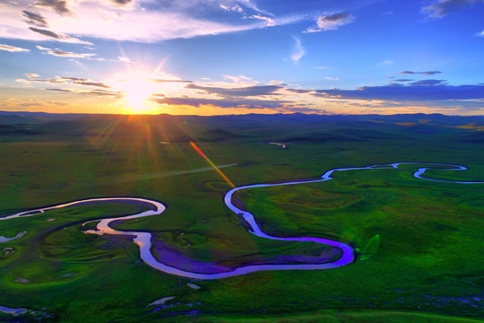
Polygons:
<instances>
[{"instance_id":1,"label":"winding purple-blue river looping across the green plain","mask_svg":"<svg viewBox=\"0 0 484 323\"><path fill-rule=\"evenodd\" d=\"M333 169L326 171L323 176L319 179L300 179L297 181L291 180L289 182L281 182L275 184L254 184L254 185L246 185L241 186L238 188L232 188L224 197L224 202L229 209L244 218L246 223L249 224L250 229L249 231L255 234L258 237L271 239L271 240L285 240L285 241L312 241L316 243L321 243L324 245L329 245L338 249L341 249L342 254L341 258L337 259L336 261L324 263L324 264L267 264L267 265L249 265L249 266L239 266L234 268L230 271L220 272L220 273L196 273L191 271L186 271L179 269L174 266L168 266L163 264L162 262L158 261L154 258L153 254L151 253L151 233L150 232L143 232L143 231L117 231L112 229L109 224L117 221L126 221L130 219L140 218L144 216L151 216L151 215L158 215L162 214L166 207L162 203L150 200L141 197L100 197L100 198L90 198L84 200L73 201L61 205L52 205L46 206L38 209L32 209L23 211L17 214L8 215L5 217L0 218L0 220L10 220L13 218L20 218L26 216L33 216L37 214L42 214L48 210L59 209L63 207L75 206L75 205L88 205L94 203L102 203L102 202L117 202L117 203L142 203L153 206L153 209L144 211L140 214L132 214L117 218L108 218L108 219L99 219L99 223L96 225L96 230L85 231L86 233L94 233L94 234L112 234L112 235L124 235L124 236L132 236L133 241L135 244L138 245L140 249L140 258L148 264L149 266L158 269L162 272L171 274L171 275L178 275L188 278L195 278L195 279L217 279L217 278L225 278L235 275L246 275L249 273L253 273L256 271L261 270L309 270L309 269L329 269L329 268L336 268L339 266L345 266L354 261L354 250L348 245L340 241L336 240L329 240L324 238L316 238L316 237L294 237L294 238L282 238L282 237L275 237L271 236L260 229L258 224L255 222L254 214L250 212L244 211L239 209L236 205L232 203L232 196L239 190L242 189L249 189L249 188L268 188L268 187L275 187L275 186L284 186L284 185L298 185L298 184L306 184L306 183L315 183L321 182L325 180L333 179L332 175L336 171L344 171L344 170L383 170L383 169L398 169L402 164L422 164L422 165L432 165L432 167L424 167L419 168L416 172L413 173L413 176L417 179L425 179L431 180L436 182L445 182L445 183L457 183L457 184L484 184L484 181L451 181L451 180L441 180L441 179L428 179L423 177L424 173L427 170L467 170L467 167L454 165L454 164L445 164L445 163L428 163L428 162L394 162L389 164L376 164L367 167L351 167L351 168L340 168L340 169ZM445 168L438 168L438 167L445 167Z\"/></svg>"}]
</instances>

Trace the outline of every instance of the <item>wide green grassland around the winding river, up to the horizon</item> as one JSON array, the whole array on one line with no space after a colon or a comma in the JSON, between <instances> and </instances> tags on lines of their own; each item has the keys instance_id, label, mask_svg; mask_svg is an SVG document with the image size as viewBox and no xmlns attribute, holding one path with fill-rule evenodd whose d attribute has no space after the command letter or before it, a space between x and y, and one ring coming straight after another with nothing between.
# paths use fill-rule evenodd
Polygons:
<instances>
[{"instance_id":1,"label":"wide green grassland around the winding river, up to the horizon","mask_svg":"<svg viewBox=\"0 0 484 323\"><path fill-rule=\"evenodd\" d=\"M91 197L154 199L167 206L163 214L113 227L150 231L153 242L181 258L220 266L335 250L250 234L223 203L229 183L191 141L237 187L314 179L333 168L424 162L238 192L268 234L340 240L357 251L354 263L330 270L194 280L147 266L129 237L84 233L99 219L140 213L143 205L78 205L0 221L0 236L27 231L0 242L0 306L28 309L20 316L0 312L0 320L482 321L484 184L412 174L431 167L425 162L441 162L469 169L428 170L425 177L484 180L484 132L477 130L483 122L440 115L32 115L13 122L0 115L2 216ZM149 305L164 297L174 298Z\"/></svg>"}]
</instances>

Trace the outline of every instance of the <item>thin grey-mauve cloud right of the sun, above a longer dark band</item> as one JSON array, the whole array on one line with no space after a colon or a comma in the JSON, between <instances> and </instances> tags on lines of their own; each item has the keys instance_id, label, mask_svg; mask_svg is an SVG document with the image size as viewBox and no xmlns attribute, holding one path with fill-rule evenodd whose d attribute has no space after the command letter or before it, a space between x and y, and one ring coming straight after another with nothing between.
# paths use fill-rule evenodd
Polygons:
<instances>
[{"instance_id":1,"label":"thin grey-mauve cloud right of the sun, above a longer dark band","mask_svg":"<svg viewBox=\"0 0 484 323\"><path fill-rule=\"evenodd\" d=\"M276 92L282 88L283 86L281 85L256 85L237 88L211 87L196 84L186 85L186 89L202 90L206 94L218 94L224 98L280 95Z\"/></svg>"}]
</instances>

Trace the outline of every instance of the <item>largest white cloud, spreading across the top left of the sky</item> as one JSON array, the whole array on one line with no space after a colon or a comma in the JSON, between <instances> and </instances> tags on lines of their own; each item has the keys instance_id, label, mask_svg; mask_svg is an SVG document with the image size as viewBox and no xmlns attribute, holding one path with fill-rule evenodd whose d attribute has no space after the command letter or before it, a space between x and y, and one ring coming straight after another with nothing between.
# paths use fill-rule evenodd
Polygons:
<instances>
[{"instance_id":1,"label":"largest white cloud, spreading across the top left of the sky","mask_svg":"<svg viewBox=\"0 0 484 323\"><path fill-rule=\"evenodd\" d=\"M48 39L84 44L91 44L82 40L86 37L155 42L163 39L192 38L246 31L297 22L301 19L281 17L280 21L274 21L267 17L267 15L271 15L270 13L264 13L254 2L248 0L226 0L223 2L222 8L225 6L237 12L240 11L238 8L242 7L255 10L259 14L252 17L252 22L244 20L243 16L234 22L200 18L200 15L194 13L197 4L202 4L202 0L177 1L167 4L168 8L158 10L152 9L152 0L139 0L136 4L130 2L131 5L119 5L122 2L43 0L42 5L32 7L31 0L20 0L19 4L4 4L0 11L0 38ZM143 9L144 4L150 4L151 9ZM203 4L212 5L210 10L220 8L220 1L203 1ZM46 26L39 28L33 22L25 21L22 11L27 9L35 11L39 17L42 17ZM260 13L264 13L264 15Z\"/></svg>"}]
</instances>

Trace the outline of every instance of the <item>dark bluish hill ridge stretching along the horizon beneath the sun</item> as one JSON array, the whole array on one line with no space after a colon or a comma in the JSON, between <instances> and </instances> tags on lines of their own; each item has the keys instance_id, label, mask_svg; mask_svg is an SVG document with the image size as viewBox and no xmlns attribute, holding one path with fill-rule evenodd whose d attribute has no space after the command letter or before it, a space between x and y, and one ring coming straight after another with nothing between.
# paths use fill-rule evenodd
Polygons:
<instances>
[{"instance_id":1,"label":"dark bluish hill ridge stretching along the horizon beneath the sun","mask_svg":"<svg viewBox=\"0 0 484 323\"><path fill-rule=\"evenodd\" d=\"M429 135L459 135L462 141L481 141L483 116L441 114L307 115L302 113L228 116L153 116L48 114L0 111L0 136L119 137L123 140L219 142L359 142Z\"/></svg>"}]
</instances>

